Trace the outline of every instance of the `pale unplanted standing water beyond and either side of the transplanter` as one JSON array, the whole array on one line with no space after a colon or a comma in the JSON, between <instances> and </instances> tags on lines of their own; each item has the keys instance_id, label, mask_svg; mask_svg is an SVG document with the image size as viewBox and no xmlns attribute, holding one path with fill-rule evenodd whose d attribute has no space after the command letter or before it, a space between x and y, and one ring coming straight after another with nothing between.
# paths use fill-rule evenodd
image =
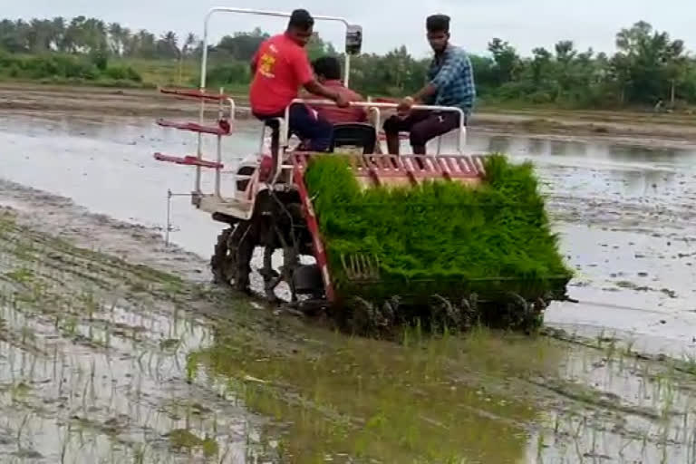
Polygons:
<instances>
[{"instance_id":1,"label":"pale unplanted standing water beyond and either side of the transplanter","mask_svg":"<svg viewBox=\"0 0 696 464\"><path fill-rule=\"evenodd\" d=\"M194 136L162 130L149 119L5 117L0 140L7 151L3 178L159 230L167 189L185 194L193 185L192 169L161 164L151 154L192 153ZM692 352L696 147L620 141L474 132L469 150L536 163L562 247L578 271L572 296L581 301L554 306L548 322L652 335L652 344L672 353ZM226 140L228 170L257 145L258 127L240 123ZM175 243L208 257L218 224L191 208L188 197L172 199L172 223Z\"/></svg>"}]
</instances>

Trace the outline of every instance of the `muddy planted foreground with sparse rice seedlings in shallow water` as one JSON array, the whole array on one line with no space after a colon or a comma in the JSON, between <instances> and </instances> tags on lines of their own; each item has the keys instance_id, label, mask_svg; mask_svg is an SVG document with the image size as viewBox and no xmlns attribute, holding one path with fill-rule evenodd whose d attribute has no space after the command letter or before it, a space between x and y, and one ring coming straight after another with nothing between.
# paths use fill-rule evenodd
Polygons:
<instances>
[{"instance_id":1,"label":"muddy planted foreground with sparse rice seedlings in shallow water","mask_svg":"<svg viewBox=\"0 0 696 464\"><path fill-rule=\"evenodd\" d=\"M0 217L8 462L696 459L694 362L558 333L347 337L16 218Z\"/></svg>"}]
</instances>

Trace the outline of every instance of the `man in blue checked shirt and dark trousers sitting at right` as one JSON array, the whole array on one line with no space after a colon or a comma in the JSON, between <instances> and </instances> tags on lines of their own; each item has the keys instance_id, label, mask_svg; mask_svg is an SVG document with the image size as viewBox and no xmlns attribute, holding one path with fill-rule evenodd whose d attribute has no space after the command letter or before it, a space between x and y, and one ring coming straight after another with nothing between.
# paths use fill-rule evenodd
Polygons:
<instances>
[{"instance_id":1,"label":"man in blue checked shirt and dark trousers sitting at right","mask_svg":"<svg viewBox=\"0 0 696 464\"><path fill-rule=\"evenodd\" d=\"M474 70L469 55L449 43L449 16L429 16L426 28L428 42L435 52L428 71L429 83L420 92L403 99L397 114L384 121L387 147L391 154L399 154L399 132L410 132L413 153L424 155L428 140L459 128L459 113L411 111L414 104L456 106L464 111L466 124L476 99Z\"/></svg>"}]
</instances>

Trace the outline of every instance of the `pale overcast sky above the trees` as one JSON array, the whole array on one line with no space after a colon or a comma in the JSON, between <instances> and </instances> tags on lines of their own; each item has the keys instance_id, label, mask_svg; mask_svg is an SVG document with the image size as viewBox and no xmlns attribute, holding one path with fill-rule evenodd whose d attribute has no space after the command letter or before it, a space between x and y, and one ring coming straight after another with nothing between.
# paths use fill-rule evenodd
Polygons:
<instances>
[{"instance_id":1,"label":"pale overcast sky above the trees","mask_svg":"<svg viewBox=\"0 0 696 464\"><path fill-rule=\"evenodd\" d=\"M696 0L0 0L0 5L0 16L14 19L84 14L157 34L173 30L179 36L189 31L202 34L203 16L211 6L280 11L304 7L312 14L338 15L362 24L365 52L383 53L404 43L419 57L428 53L423 24L433 13L449 14L454 42L474 53L485 51L492 37L513 43L522 54L564 39L580 49L611 52L616 32L643 19L696 50ZM276 32L285 21L221 15L213 20L211 34L218 38L256 25ZM319 24L317 30L343 48L340 27Z\"/></svg>"}]
</instances>

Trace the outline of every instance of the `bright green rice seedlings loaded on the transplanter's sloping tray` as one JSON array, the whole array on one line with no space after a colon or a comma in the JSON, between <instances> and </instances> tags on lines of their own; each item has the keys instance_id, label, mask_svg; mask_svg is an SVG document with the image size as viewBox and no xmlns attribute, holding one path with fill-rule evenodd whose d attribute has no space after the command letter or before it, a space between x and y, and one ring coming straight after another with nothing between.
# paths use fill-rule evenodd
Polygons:
<instances>
[{"instance_id":1,"label":"bright green rice seedlings loaded on the transplanter's sloping tray","mask_svg":"<svg viewBox=\"0 0 696 464\"><path fill-rule=\"evenodd\" d=\"M315 157L305 174L333 281L342 294L460 295L516 291L538 296L565 287L565 266L531 164L494 155L478 188L427 181L361 189L340 156ZM353 257L352 257L353 256ZM372 285L343 263L377 264Z\"/></svg>"}]
</instances>

